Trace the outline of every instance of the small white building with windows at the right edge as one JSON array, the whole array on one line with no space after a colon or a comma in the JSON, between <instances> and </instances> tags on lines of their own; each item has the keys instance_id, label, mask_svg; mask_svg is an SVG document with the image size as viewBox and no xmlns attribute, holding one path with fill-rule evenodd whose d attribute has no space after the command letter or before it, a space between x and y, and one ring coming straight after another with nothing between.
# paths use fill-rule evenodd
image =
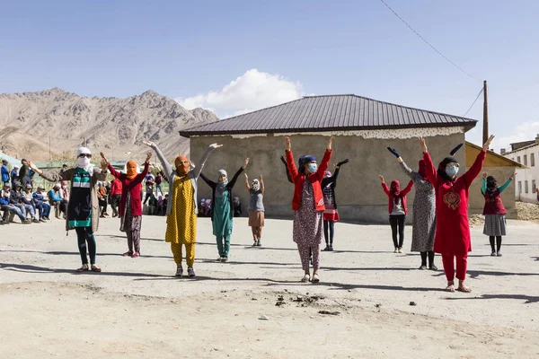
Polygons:
<instances>
[{"instance_id":1,"label":"small white building with windows at the right edge","mask_svg":"<svg viewBox=\"0 0 539 359\"><path fill-rule=\"evenodd\" d=\"M517 201L536 203L535 189L539 185L539 135L535 140L511 144L511 151L501 149L500 154L510 160L521 163L524 168L517 168L515 198Z\"/></svg>"}]
</instances>

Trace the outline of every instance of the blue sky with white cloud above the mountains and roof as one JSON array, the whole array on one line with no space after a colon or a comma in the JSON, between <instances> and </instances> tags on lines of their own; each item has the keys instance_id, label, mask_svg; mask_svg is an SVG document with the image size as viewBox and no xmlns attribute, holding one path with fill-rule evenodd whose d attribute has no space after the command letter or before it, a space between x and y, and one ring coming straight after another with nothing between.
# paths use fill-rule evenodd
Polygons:
<instances>
[{"instance_id":1,"label":"blue sky with white cloud above the mountains and roof","mask_svg":"<svg viewBox=\"0 0 539 359\"><path fill-rule=\"evenodd\" d=\"M53 0L2 4L0 93L154 90L220 118L354 93L463 116L487 80L493 147L539 134L538 1L384 1L474 78L381 0Z\"/></svg>"}]
</instances>

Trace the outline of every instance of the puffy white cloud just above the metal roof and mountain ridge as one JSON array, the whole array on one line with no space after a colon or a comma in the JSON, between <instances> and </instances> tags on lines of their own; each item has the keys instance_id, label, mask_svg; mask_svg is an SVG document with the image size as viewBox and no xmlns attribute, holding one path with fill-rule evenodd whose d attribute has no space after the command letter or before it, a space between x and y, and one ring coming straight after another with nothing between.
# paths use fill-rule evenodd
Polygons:
<instances>
[{"instance_id":1,"label":"puffy white cloud just above the metal roof and mountain ridge","mask_svg":"<svg viewBox=\"0 0 539 359\"><path fill-rule=\"evenodd\" d=\"M294 101L303 96L301 83L294 83L280 74L268 74L253 68L226 84L220 91L174 100L185 109L210 109L219 118L226 118Z\"/></svg>"}]
</instances>

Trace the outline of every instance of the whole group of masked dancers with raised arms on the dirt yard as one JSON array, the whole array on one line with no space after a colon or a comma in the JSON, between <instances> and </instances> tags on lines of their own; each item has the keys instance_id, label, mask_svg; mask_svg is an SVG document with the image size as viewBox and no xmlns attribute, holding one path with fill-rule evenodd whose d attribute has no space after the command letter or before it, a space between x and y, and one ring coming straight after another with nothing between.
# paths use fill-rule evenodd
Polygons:
<instances>
[{"instance_id":1,"label":"whole group of masked dancers with raised arms on the dirt yard","mask_svg":"<svg viewBox=\"0 0 539 359\"><path fill-rule=\"evenodd\" d=\"M388 187L384 177L380 176L384 192L389 198L389 215L392 226L393 244L395 252L402 251L403 226L408 209L406 195L413 185L416 186L414 198L414 216L412 225L412 251L420 251L421 267L436 270L434 253L440 253L446 273L446 290L454 292L470 292L464 285L467 255L472 250L470 241L470 228L468 222L468 189L473 180L482 170L482 163L486 151L494 136L483 145L473 166L463 175L457 176L459 163L452 156L446 157L435 168L427 144L419 138L422 146L423 158L419 163L419 171L411 171L402 160L400 154L389 148L411 181L406 188L401 189L396 180ZM339 162L334 166L334 173L327 171L331 161L330 137L323 159L318 164L314 156L302 155L298 165L294 160L290 137L285 136L285 157L281 157L287 166L287 178L294 184L292 209L295 211L293 225L293 241L301 259L304 276L302 282L317 283L320 281L320 253L322 238L325 237L324 250L333 249L334 223L339 221L334 188L340 166L349 162ZM165 241L171 243L172 256L176 264L175 276L183 276L182 259L187 264L187 275L196 276L194 270L195 244L197 241L197 214L198 214L198 180L201 177L212 189L211 212L213 234L216 236L218 261L226 262L230 251L230 236L233 231L234 206L232 190L239 176L249 164L245 159L242 167L234 173L229 180L225 170L219 170L216 181L210 180L202 171L208 161L210 153L222 144L210 144L195 167L190 159L178 156L174 159L173 167L164 158L163 153L153 142L146 141L157 155L163 165L163 171L169 179L169 198L166 207ZM453 155L454 152L451 153ZM120 231L126 232L128 237L128 251L125 256L137 258L140 256L140 228L142 218L142 204L140 198L142 181L149 169L151 152L147 153L144 170L137 173L137 162L129 161L127 173L116 171L110 165L106 156L101 153L101 171L93 167L90 160L92 153L88 148L81 147L76 152L77 165L73 169L61 172L43 172L33 163L30 166L42 178L57 182L59 180L71 181L71 193L66 213L66 230L75 229L82 267L77 271L92 270L101 272L96 265L96 244L94 232L98 230L99 204L96 193L98 181L105 180L108 173L122 183L122 193L119 202ZM499 246L501 236L505 235L505 209L501 203L500 193L508 183L498 187L492 177L484 174L482 193L485 197L485 234L490 236L493 255L500 255ZM264 184L262 175L251 182L245 174L245 187L250 193L249 225L252 227L253 246L261 246L261 233L264 225L263 194ZM494 239L498 240L498 248L494 248ZM185 255L183 253L185 248ZM89 254L90 263L87 255ZM459 280L455 286L456 278ZM313 272L311 274L311 267Z\"/></svg>"}]
</instances>

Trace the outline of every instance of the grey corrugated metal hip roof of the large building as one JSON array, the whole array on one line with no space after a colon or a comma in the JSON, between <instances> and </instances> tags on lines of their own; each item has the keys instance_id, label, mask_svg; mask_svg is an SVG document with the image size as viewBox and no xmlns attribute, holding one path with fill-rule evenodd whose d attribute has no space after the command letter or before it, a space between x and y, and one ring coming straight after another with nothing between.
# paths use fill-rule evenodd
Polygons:
<instances>
[{"instance_id":1,"label":"grey corrugated metal hip roof of the large building","mask_svg":"<svg viewBox=\"0 0 539 359\"><path fill-rule=\"evenodd\" d=\"M267 109L180 131L202 135L323 132L362 129L454 127L466 131L477 120L425 109L413 109L357 95L306 96Z\"/></svg>"}]
</instances>

